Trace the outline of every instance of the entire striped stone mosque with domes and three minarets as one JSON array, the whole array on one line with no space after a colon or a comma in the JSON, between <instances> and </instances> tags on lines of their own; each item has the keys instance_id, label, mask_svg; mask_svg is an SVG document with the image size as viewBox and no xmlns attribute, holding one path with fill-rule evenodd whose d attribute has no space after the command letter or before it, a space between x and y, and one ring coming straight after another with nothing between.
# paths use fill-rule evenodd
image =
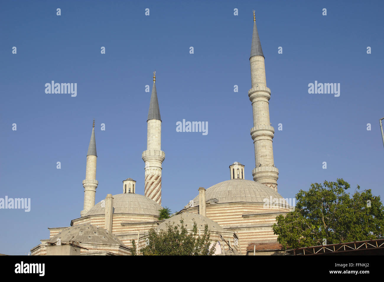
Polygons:
<instances>
[{"instance_id":1,"label":"entire striped stone mosque with domes and three minarets","mask_svg":"<svg viewBox=\"0 0 384 282\"><path fill-rule=\"evenodd\" d=\"M49 239L31 249L32 255L130 255L131 240L137 247L145 246L151 228L166 229L167 223L192 229L196 222L204 231L208 224L210 238L218 242L218 255L281 255L284 251L273 234L276 216L288 213L291 207L277 192L278 169L273 162L270 124L270 89L266 86L264 54L253 12L253 35L250 54L253 127L250 129L255 146L253 180L245 179L244 165L229 166L228 180L208 189L200 187L198 195L176 215L159 220L161 206L161 175L165 153L161 150L161 116L156 91L156 73L147 119L147 150L142 153L145 163L144 195L136 193L136 181L122 181L122 193L108 194L95 204L96 139L94 123L89 142L86 176L83 180L84 207L80 217L69 227L48 228ZM271 204L276 199L280 204Z\"/></svg>"}]
</instances>

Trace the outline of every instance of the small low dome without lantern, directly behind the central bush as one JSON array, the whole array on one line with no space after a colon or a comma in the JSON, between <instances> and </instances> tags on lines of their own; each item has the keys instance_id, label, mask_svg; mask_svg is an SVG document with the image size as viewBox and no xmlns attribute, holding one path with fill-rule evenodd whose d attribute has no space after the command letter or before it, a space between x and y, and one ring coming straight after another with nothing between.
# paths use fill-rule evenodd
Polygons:
<instances>
[{"instance_id":1,"label":"small low dome without lantern, directly behind the central bush","mask_svg":"<svg viewBox=\"0 0 384 282\"><path fill-rule=\"evenodd\" d=\"M180 213L175 216L172 216L171 218L166 219L164 222L162 222L158 227L157 230L164 230L167 231L167 224L174 224L180 225L180 219L183 219L184 226L186 229L192 229L194 221L197 224L197 230L204 232L205 224L208 224L208 229L211 231L219 231L223 232L225 231L218 223L213 221L212 219L209 219L205 216L202 216L200 214L195 213Z\"/></svg>"}]
</instances>

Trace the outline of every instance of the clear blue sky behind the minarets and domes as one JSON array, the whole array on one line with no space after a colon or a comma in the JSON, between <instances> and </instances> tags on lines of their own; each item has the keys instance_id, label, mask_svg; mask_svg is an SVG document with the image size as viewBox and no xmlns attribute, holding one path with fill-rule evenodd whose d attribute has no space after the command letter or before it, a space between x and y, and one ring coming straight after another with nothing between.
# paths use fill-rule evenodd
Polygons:
<instances>
[{"instance_id":1,"label":"clear blue sky behind the minarets and domes","mask_svg":"<svg viewBox=\"0 0 384 282\"><path fill-rule=\"evenodd\" d=\"M381 1L2 3L0 198L31 198L31 211L0 209L0 253L25 254L49 238L48 227L80 216L93 118L96 202L122 193L127 177L144 194L145 86L152 88L154 69L163 206L180 210L199 186L230 179L235 161L252 180L252 9L272 93L278 192L293 198L311 183L344 178L351 193L360 185L382 195L383 8ZM77 83L77 96L46 94L52 80ZM340 96L308 94L314 81L340 83ZM208 134L176 132L183 119L208 122Z\"/></svg>"}]
</instances>

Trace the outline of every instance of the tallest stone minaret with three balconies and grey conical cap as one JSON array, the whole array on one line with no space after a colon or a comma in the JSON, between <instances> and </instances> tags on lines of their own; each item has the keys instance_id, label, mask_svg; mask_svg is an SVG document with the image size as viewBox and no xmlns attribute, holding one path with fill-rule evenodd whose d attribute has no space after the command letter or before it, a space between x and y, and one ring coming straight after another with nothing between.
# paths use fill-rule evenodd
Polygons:
<instances>
[{"instance_id":1,"label":"tallest stone minaret with three balconies and grey conical cap","mask_svg":"<svg viewBox=\"0 0 384 282\"><path fill-rule=\"evenodd\" d=\"M265 184L277 191L279 170L273 162L272 139L275 129L269 121L269 99L271 90L266 87L264 54L256 27L255 10L253 10L253 35L251 56L252 88L248 97L252 102L253 127L251 136L255 145L256 168L252 170L253 180Z\"/></svg>"}]
</instances>

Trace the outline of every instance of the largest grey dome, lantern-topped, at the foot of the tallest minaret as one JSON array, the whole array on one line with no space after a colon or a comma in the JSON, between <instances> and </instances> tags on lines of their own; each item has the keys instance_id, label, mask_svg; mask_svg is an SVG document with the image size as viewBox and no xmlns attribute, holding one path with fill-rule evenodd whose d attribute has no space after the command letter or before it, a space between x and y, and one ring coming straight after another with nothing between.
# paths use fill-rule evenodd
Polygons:
<instances>
[{"instance_id":1,"label":"largest grey dome, lantern-topped, at the foot of the tallest minaret","mask_svg":"<svg viewBox=\"0 0 384 282\"><path fill-rule=\"evenodd\" d=\"M272 188L252 180L231 179L215 184L205 191L205 199L217 199L217 203L265 203L265 199L283 199ZM194 198L194 206L199 205L199 195ZM285 203L285 201L283 201Z\"/></svg>"}]
</instances>

